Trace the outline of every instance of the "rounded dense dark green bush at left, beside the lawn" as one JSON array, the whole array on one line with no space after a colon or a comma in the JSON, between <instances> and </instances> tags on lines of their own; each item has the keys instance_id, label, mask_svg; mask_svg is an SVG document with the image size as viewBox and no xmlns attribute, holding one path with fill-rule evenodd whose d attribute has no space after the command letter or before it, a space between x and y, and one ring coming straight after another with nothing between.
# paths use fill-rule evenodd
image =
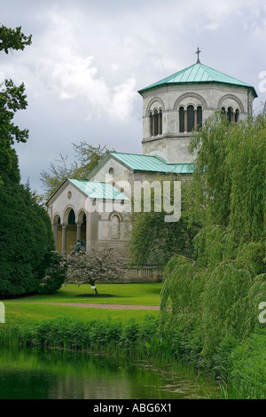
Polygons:
<instances>
[{"instance_id":1,"label":"rounded dense dark green bush at left, beside the lawn","mask_svg":"<svg viewBox=\"0 0 266 417\"><path fill-rule=\"evenodd\" d=\"M51 221L22 185L1 185L0 296L38 291L54 249Z\"/></svg>"}]
</instances>

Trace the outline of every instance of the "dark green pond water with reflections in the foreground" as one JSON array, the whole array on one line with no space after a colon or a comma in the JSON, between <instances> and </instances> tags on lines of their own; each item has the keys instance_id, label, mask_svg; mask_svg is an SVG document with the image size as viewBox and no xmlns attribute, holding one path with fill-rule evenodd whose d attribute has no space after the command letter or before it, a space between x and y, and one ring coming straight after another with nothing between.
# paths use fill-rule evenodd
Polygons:
<instances>
[{"instance_id":1,"label":"dark green pond water with reflections in the foreground","mask_svg":"<svg viewBox=\"0 0 266 417\"><path fill-rule=\"evenodd\" d=\"M211 383L132 359L68 350L0 349L0 399L214 397Z\"/></svg>"}]
</instances>

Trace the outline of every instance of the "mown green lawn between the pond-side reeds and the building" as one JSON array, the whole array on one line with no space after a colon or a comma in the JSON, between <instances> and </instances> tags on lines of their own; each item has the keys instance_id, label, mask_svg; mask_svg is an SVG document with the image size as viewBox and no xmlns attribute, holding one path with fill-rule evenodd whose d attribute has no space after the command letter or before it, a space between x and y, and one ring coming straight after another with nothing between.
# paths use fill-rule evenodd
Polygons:
<instances>
[{"instance_id":1,"label":"mown green lawn between the pond-side reeds and the building","mask_svg":"<svg viewBox=\"0 0 266 417\"><path fill-rule=\"evenodd\" d=\"M43 319L56 319L59 316L80 319L121 319L130 318L141 321L147 314L157 315L158 311L145 310L103 310L65 305L27 304L39 303L104 303L104 304L133 304L160 305L161 284L98 284L99 294L111 294L111 298L77 297L80 294L91 294L90 286L78 287L68 284L53 295L34 295L30 297L4 300L5 325L24 325Z\"/></svg>"}]
</instances>

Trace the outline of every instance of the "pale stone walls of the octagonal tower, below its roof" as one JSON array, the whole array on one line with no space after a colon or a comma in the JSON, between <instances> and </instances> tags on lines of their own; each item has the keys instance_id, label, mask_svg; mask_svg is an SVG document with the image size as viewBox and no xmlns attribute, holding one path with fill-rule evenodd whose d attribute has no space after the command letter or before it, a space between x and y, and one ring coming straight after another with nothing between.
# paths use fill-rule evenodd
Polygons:
<instances>
[{"instance_id":1,"label":"pale stone walls of the octagonal tower, below its roof","mask_svg":"<svg viewBox=\"0 0 266 417\"><path fill-rule=\"evenodd\" d=\"M195 160L196 154L188 152L191 133L180 132L179 109L188 106L202 108L202 122L216 110L231 108L239 112L239 121L252 114L254 92L251 88L218 83L190 83L162 85L141 92L143 97L143 153L157 154L168 162L186 163ZM150 113L162 112L162 130L151 135Z\"/></svg>"}]
</instances>

